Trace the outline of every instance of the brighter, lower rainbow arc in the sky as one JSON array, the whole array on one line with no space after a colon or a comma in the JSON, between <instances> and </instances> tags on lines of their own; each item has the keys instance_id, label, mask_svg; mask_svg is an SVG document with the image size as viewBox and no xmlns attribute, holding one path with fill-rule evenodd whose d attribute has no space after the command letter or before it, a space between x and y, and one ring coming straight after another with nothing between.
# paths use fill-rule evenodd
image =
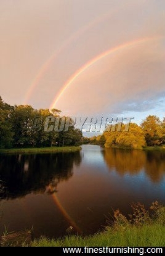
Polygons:
<instances>
[{"instance_id":1,"label":"brighter, lower rainbow arc in the sky","mask_svg":"<svg viewBox=\"0 0 165 256\"><path fill-rule=\"evenodd\" d=\"M82 72L84 72L86 69L88 69L89 67L91 67L94 63L96 63L97 61L103 59L104 57L112 54L112 53L116 53L119 50L123 50L129 47L132 47L134 45L138 45L141 43L145 43L147 41L151 41L151 40L157 40L159 38L162 38L162 36L155 36L155 37L146 37L146 38L140 38L140 39L136 39L133 41L129 41L127 43L115 46L114 48L111 48L109 50L106 50L105 52L97 55L96 57L94 57L92 60L88 61L87 63L85 63L85 65L83 65L82 67L80 67L80 69L78 69L64 84L64 86L62 86L61 91L59 92L59 94L54 98L53 103L50 105L50 110L52 108L55 107L55 105L57 104L59 98L61 97L61 95L64 93L64 91L66 91L66 89L68 88L68 86L70 86L73 81L75 81L75 79L77 79L80 74L82 74Z\"/></svg>"}]
</instances>

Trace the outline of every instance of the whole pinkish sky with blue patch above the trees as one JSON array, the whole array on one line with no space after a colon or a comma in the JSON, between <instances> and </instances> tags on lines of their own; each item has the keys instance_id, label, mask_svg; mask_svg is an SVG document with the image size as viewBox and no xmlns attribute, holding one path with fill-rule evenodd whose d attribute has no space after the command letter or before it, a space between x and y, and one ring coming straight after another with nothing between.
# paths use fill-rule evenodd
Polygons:
<instances>
[{"instance_id":1,"label":"whole pinkish sky with blue patch above the trees","mask_svg":"<svg viewBox=\"0 0 165 256\"><path fill-rule=\"evenodd\" d=\"M0 95L66 115L165 116L164 0L1 0Z\"/></svg>"}]
</instances>

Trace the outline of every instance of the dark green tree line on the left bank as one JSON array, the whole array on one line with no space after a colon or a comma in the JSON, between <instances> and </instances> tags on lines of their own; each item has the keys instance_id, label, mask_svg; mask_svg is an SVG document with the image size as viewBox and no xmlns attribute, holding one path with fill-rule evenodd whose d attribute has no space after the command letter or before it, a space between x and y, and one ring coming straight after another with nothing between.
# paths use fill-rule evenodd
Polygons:
<instances>
[{"instance_id":1,"label":"dark green tree line on the left bank","mask_svg":"<svg viewBox=\"0 0 165 256\"><path fill-rule=\"evenodd\" d=\"M39 109L31 105L9 105L0 97L0 148L45 147L45 146L78 146L82 144L82 132L74 125L68 131L47 132L44 121L47 116L59 118L60 110ZM33 123L37 117L41 129Z\"/></svg>"}]
</instances>

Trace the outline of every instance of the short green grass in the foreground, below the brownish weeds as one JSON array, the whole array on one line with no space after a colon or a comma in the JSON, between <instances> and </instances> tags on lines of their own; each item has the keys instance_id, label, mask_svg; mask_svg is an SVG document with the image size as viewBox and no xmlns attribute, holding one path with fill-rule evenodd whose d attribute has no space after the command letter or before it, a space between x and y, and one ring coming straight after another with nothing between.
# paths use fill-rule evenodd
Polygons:
<instances>
[{"instance_id":1,"label":"short green grass in the foreground, below the brownish weeds","mask_svg":"<svg viewBox=\"0 0 165 256\"><path fill-rule=\"evenodd\" d=\"M161 224L142 227L108 227L105 232L91 236L70 236L64 239L35 240L31 246L165 246L165 226Z\"/></svg>"}]
</instances>

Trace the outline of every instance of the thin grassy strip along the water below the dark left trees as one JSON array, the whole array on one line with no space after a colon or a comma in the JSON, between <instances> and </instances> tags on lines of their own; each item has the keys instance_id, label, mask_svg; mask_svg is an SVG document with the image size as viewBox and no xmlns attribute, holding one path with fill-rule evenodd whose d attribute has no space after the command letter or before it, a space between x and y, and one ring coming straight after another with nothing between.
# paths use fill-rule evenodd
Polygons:
<instances>
[{"instance_id":1,"label":"thin grassy strip along the water below the dark left trees","mask_svg":"<svg viewBox=\"0 0 165 256\"><path fill-rule=\"evenodd\" d=\"M53 153L53 152L75 152L80 150L81 150L80 146L46 147L46 148L11 148L11 149L0 149L0 153L7 153L7 154Z\"/></svg>"}]
</instances>

